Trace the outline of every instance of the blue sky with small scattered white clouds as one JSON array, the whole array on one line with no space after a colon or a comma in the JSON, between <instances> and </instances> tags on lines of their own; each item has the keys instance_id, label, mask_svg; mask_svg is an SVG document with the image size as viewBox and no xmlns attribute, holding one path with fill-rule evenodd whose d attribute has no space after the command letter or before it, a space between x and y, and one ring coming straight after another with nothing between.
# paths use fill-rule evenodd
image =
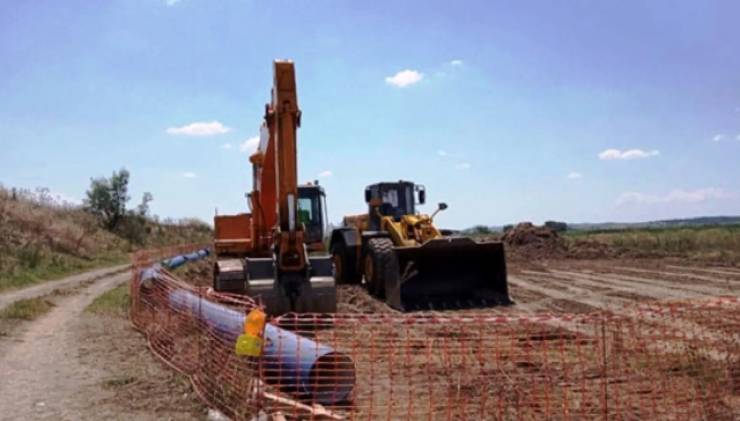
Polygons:
<instances>
[{"instance_id":1,"label":"blue sky with small scattered white clouds","mask_svg":"<svg viewBox=\"0 0 740 421\"><path fill-rule=\"evenodd\" d=\"M0 182L79 200L125 166L132 202L149 191L160 216L244 211L271 61L290 58L300 178L320 179L332 221L400 178L454 228L738 214L738 16L734 1L2 1Z\"/></svg>"}]
</instances>

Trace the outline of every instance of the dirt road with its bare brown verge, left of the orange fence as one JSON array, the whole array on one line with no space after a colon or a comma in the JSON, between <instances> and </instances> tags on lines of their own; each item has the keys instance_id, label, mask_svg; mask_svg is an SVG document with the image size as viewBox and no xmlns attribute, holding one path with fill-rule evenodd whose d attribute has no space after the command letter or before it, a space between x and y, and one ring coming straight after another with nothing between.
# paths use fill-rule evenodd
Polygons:
<instances>
[{"instance_id":1,"label":"dirt road with its bare brown verge, left of the orange fence","mask_svg":"<svg viewBox=\"0 0 740 421\"><path fill-rule=\"evenodd\" d=\"M125 315L85 312L131 277L100 276L65 280L49 313L0 339L0 420L202 418L189 383L152 357Z\"/></svg>"}]
</instances>

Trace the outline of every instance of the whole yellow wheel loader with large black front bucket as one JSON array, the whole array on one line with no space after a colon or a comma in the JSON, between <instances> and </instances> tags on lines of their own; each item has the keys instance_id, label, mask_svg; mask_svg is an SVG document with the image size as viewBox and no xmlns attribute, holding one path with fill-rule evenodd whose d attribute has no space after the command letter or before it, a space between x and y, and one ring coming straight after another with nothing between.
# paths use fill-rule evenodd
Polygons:
<instances>
[{"instance_id":1,"label":"whole yellow wheel loader with large black front bucket","mask_svg":"<svg viewBox=\"0 0 740 421\"><path fill-rule=\"evenodd\" d=\"M365 189L368 213L346 216L332 231L337 283L363 282L368 291L402 311L512 304L501 242L443 235L432 215L416 213L424 186L384 182Z\"/></svg>"}]
</instances>

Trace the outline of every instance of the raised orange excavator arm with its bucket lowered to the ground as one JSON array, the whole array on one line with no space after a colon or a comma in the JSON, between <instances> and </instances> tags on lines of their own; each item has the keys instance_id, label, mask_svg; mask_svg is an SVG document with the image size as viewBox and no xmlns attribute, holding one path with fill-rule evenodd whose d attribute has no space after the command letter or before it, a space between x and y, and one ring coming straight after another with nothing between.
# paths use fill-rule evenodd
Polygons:
<instances>
[{"instance_id":1,"label":"raised orange excavator arm with its bucket lowered to the ground","mask_svg":"<svg viewBox=\"0 0 740 421\"><path fill-rule=\"evenodd\" d=\"M299 219L300 121L293 62L275 61L272 100L265 106L260 145L250 158L251 200L258 214L253 226L267 256L248 257L245 263L247 294L261 299L271 314L336 311L331 258L309 257Z\"/></svg>"}]
</instances>

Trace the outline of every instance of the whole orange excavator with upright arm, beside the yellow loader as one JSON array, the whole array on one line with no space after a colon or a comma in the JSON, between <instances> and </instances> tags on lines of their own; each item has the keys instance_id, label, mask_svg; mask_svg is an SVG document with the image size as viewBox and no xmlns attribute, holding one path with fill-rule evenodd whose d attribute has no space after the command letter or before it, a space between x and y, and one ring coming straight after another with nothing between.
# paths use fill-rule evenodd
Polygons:
<instances>
[{"instance_id":1,"label":"whole orange excavator with upright arm, beside the yellow loader","mask_svg":"<svg viewBox=\"0 0 740 421\"><path fill-rule=\"evenodd\" d=\"M298 185L300 123L295 67L276 60L272 100L249 158L250 212L214 218L214 289L247 294L272 315L337 306L331 257L309 254L325 253L326 205L318 183Z\"/></svg>"}]
</instances>

